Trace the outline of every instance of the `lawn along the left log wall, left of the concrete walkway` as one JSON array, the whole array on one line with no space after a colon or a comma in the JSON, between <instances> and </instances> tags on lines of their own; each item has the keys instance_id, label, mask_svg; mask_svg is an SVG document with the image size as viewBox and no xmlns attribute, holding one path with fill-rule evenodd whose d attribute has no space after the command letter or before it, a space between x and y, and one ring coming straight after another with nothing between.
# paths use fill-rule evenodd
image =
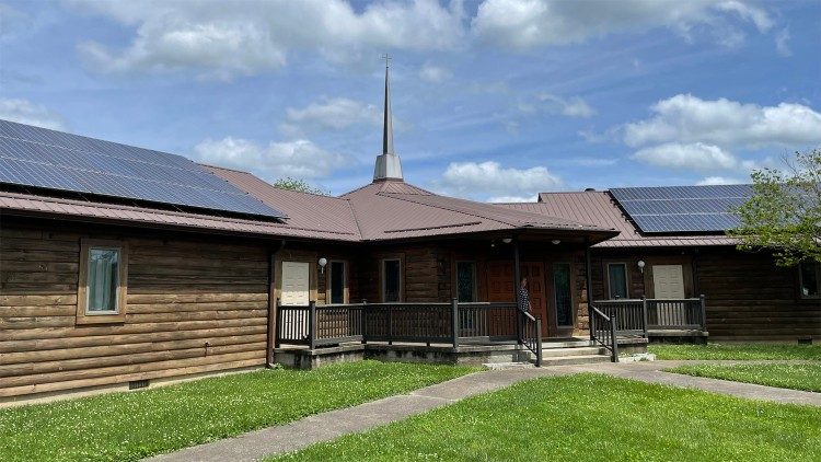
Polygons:
<instances>
[{"instance_id":1,"label":"lawn along the left log wall, left of the concrete walkway","mask_svg":"<svg viewBox=\"0 0 821 462\"><path fill-rule=\"evenodd\" d=\"M132 393L0 409L0 461L129 461L477 370L360 361L262 370Z\"/></svg>"}]
</instances>

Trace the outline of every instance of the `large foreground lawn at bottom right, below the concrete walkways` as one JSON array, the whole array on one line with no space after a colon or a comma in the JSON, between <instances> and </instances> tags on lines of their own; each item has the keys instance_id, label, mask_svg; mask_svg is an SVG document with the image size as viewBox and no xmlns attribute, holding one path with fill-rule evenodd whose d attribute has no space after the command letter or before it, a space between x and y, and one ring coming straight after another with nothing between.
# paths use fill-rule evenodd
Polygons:
<instances>
[{"instance_id":1,"label":"large foreground lawn at bottom right, below the concrete walkways","mask_svg":"<svg viewBox=\"0 0 821 462\"><path fill-rule=\"evenodd\" d=\"M821 409L598 374L522 382L269 461L818 461Z\"/></svg>"}]
</instances>

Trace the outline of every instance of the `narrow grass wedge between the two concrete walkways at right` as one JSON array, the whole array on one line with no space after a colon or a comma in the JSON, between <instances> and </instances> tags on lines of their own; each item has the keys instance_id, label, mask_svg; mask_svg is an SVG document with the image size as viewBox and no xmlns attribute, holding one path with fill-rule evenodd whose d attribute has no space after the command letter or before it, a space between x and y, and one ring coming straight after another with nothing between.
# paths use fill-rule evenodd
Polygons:
<instances>
[{"instance_id":1,"label":"narrow grass wedge between the two concrete walkways at right","mask_svg":"<svg viewBox=\"0 0 821 462\"><path fill-rule=\"evenodd\" d=\"M821 363L687 365L664 370L687 376L821 392Z\"/></svg>"}]
</instances>

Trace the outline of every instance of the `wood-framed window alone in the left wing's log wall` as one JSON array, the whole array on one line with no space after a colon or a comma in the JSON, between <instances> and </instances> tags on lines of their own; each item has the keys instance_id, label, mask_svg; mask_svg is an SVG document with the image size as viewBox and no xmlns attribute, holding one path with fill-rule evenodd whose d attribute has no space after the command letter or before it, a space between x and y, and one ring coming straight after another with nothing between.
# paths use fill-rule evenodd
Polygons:
<instances>
[{"instance_id":1,"label":"wood-framed window alone in the left wing's log wall","mask_svg":"<svg viewBox=\"0 0 821 462\"><path fill-rule=\"evenodd\" d=\"M77 291L77 323L125 321L128 251L119 241L84 240Z\"/></svg>"}]
</instances>

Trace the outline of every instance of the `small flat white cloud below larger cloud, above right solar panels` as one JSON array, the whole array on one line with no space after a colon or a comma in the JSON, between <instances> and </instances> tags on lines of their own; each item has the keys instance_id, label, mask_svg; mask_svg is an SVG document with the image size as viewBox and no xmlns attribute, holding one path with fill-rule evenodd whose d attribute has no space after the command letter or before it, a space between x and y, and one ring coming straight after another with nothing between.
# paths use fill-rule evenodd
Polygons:
<instances>
[{"instance_id":1,"label":"small flat white cloud below larger cloud, above right solar panels","mask_svg":"<svg viewBox=\"0 0 821 462\"><path fill-rule=\"evenodd\" d=\"M750 162L737 159L717 146L695 142L692 145L666 143L636 151L633 159L669 169L686 169L697 172L751 169Z\"/></svg>"}]
</instances>

